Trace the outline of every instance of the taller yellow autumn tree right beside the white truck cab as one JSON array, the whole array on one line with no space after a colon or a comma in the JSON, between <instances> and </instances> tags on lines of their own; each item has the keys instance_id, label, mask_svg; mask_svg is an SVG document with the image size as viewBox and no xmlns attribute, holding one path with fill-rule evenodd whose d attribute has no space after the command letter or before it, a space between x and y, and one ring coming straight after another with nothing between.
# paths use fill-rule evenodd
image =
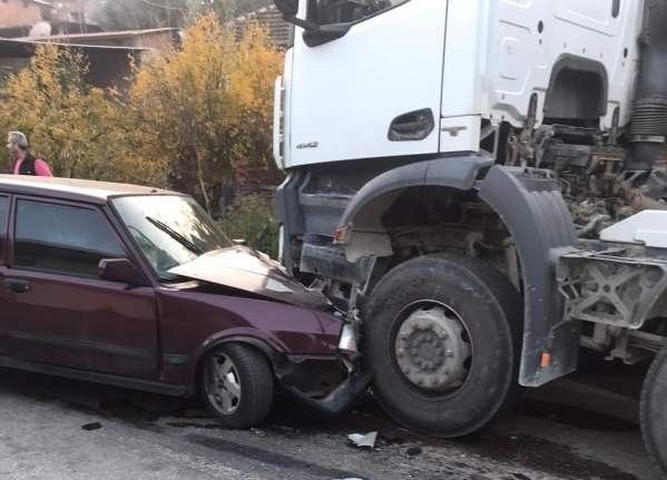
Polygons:
<instances>
[{"instance_id":1,"label":"taller yellow autumn tree right beside the white truck cab","mask_svg":"<svg viewBox=\"0 0 667 480\"><path fill-rule=\"evenodd\" d=\"M170 185L209 210L222 185L275 180L271 104L281 68L259 26L237 42L215 14L199 18L179 50L137 72L129 106L143 156L165 159Z\"/></svg>"}]
</instances>

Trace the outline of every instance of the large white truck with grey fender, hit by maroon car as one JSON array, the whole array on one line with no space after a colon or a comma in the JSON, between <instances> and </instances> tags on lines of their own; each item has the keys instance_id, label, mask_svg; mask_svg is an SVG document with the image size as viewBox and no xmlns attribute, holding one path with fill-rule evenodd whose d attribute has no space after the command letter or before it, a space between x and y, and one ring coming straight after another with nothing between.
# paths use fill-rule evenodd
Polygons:
<instances>
[{"instance_id":1,"label":"large white truck with grey fender, hit by maroon car","mask_svg":"<svg viewBox=\"0 0 667 480\"><path fill-rule=\"evenodd\" d=\"M667 471L667 0L275 0L285 267L399 422L479 430L581 345L653 362Z\"/></svg>"}]
</instances>

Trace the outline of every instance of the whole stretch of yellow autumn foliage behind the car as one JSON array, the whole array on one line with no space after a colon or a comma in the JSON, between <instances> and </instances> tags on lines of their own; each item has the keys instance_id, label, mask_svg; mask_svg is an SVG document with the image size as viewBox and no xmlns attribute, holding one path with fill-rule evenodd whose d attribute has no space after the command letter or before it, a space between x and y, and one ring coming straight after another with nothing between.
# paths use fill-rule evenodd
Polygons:
<instances>
[{"instance_id":1,"label":"whole stretch of yellow autumn foliage behind the car","mask_svg":"<svg viewBox=\"0 0 667 480\"><path fill-rule=\"evenodd\" d=\"M272 101L282 61L258 25L236 39L208 14L179 49L138 67L121 98L86 84L80 56L43 46L0 90L0 133L24 131L59 176L167 184L210 208L222 185L278 179Z\"/></svg>"}]
</instances>

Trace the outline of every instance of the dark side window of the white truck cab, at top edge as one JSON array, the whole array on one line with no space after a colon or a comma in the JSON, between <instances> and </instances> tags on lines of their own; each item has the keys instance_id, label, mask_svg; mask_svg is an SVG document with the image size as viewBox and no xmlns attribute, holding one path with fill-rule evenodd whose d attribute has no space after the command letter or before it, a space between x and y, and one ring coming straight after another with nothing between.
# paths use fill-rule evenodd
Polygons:
<instances>
[{"instance_id":1,"label":"dark side window of the white truck cab, at top edge","mask_svg":"<svg viewBox=\"0 0 667 480\"><path fill-rule=\"evenodd\" d=\"M353 23L410 0L310 0L308 20L317 25Z\"/></svg>"}]
</instances>

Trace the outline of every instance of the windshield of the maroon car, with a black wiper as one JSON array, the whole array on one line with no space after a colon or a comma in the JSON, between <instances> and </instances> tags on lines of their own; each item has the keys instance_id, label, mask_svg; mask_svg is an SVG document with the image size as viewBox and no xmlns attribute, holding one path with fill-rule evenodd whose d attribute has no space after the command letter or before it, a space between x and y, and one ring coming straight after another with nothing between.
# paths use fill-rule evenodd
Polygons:
<instances>
[{"instance_id":1,"label":"windshield of the maroon car, with a black wiper","mask_svg":"<svg viewBox=\"0 0 667 480\"><path fill-rule=\"evenodd\" d=\"M112 200L137 246L163 281L169 270L199 255L232 246L214 221L186 196L128 196Z\"/></svg>"}]
</instances>

